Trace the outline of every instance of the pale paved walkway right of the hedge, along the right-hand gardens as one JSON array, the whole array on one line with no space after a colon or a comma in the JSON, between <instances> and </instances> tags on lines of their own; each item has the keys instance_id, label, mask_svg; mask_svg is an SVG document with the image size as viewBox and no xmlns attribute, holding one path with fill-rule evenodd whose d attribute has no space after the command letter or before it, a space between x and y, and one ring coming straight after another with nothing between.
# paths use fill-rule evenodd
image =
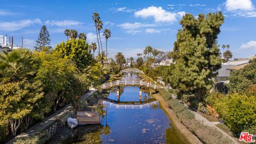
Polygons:
<instances>
[{"instance_id":1,"label":"pale paved walkway right of the hedge, along the right-hand gardens","mask_svg":"<svg viewBox=\"0 0 256 144\"><path fill-rule=\"evenodd\" d=\"M167 90L168 91L168 90ZM173 99L177 99L177 97L175 95L172 94L172 98ZM180 101L180 100L179 100ZM184 103L185 106L187 106ZM187 106L188 107L188 106ZM189 109L190 110L190 109ZM210 122L208 121L208 119L206 119L205 117L203 117L202 115L198 114L196 111L190 110L192 113L195 114L195 119L203 122L205 125L207 126L211 126L211 127L215 127L218 131L220 131L222 134L226 135L227 137L229 137L234 143L239 143L238 141L236 141L233 137L231 137L230 135L228 135L226 132L222 131L218 126L216 126L217 124L219 124L220 122Z\"/></svg>"}]
</instances>

